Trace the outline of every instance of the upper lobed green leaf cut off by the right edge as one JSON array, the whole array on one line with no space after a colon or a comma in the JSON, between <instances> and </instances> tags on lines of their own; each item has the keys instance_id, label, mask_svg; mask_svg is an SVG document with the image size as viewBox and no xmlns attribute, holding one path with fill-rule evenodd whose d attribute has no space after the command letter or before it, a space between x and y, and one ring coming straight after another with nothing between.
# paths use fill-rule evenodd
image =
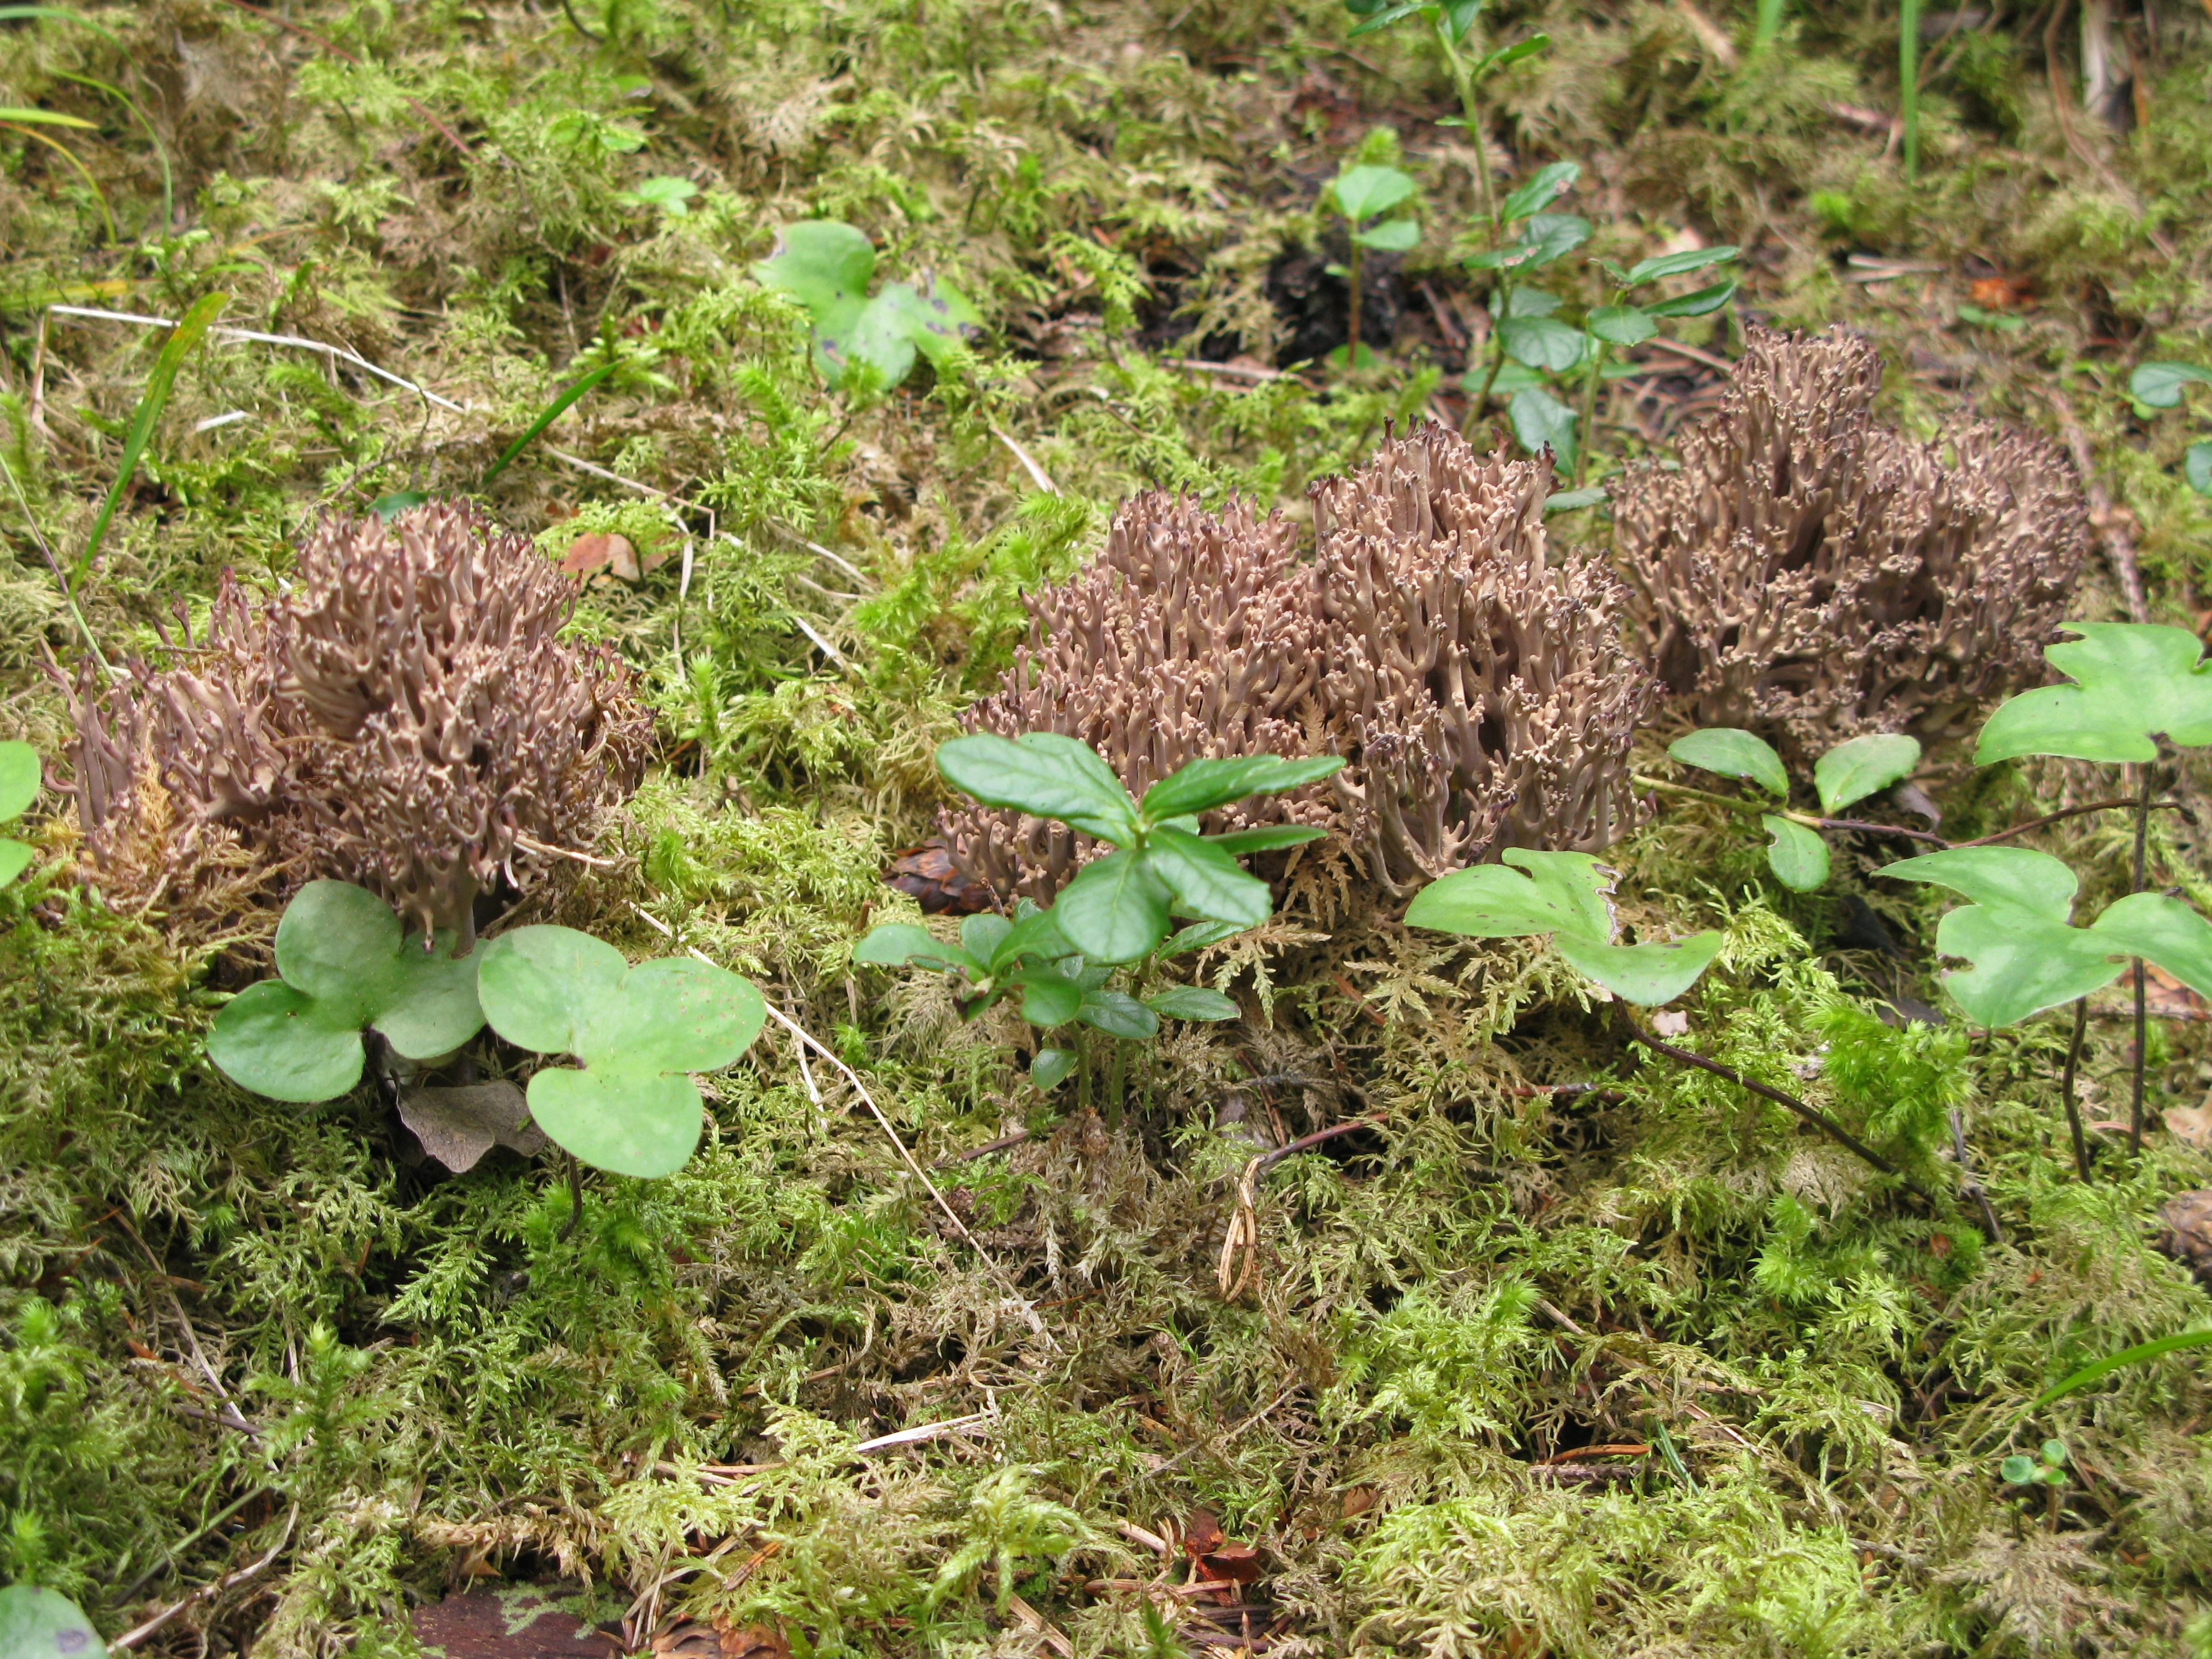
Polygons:
<instances>
[{"instance_id":1,"label":"upper lobed green leaf cut off by the right edge","mask_svg":"<svg viewBox=\"0 0 2212 1659\"><path fill-rule=\"evenodd\" d=\"M1982 728L1973 763L2017 754L2073 761L2154 761L2154 734L2181 748L2212 743L2212 666L2188 628L2141 622L2068 622L2079 639L2044 657L2073 686L2039 686L2002 703Z\"/></svg>"}]
</instances>

